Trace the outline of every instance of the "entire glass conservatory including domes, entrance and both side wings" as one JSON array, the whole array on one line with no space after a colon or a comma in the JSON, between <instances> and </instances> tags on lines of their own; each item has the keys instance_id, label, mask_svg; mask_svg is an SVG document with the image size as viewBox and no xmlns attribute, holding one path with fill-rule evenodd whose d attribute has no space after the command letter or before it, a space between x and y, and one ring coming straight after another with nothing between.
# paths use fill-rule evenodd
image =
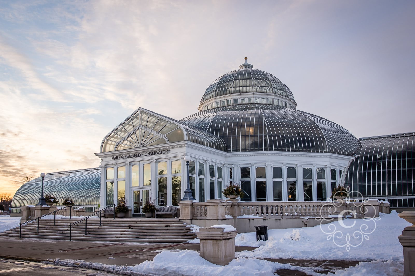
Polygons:
<instances>
[{"instance_id":1,"label":"entire glass conservatory including domes, entrance and both side wings","mask_svg":"<svg viewBox=\"0 0 415 276\"><path fill-rule=\"evenodd\" d=\"M207 87L199 112L174 120L138 108L103 139L99 168L48 173L45 193L73 198L86 211L125 202L129 215L143 202L178 206L193 197L225 199L240 183L242 201L325 201L337 185L364 197L414 206L414 132L356 139L343 127L297 110L290 89L244 64ZM16 192L12 213L38 202L41 178ZM353 194L352 194L353 196Z\"/></svg>"}]
</instances>

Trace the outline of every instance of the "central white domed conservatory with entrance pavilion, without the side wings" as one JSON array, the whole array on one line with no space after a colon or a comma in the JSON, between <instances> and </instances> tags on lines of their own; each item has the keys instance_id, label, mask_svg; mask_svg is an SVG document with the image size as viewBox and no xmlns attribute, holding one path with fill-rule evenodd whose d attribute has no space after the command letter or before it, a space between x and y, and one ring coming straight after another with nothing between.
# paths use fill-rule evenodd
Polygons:
<instances>
[{"instance_id":1,"label":"central white domed conservatory with entrance pavilion, without the side wings","mask_svg":"<svg viewBox=\"0 0 415 276\"><path fill-rule=\"evenodd\" d=\"M138 108L103 139L100 206L125 202L132 215L143 202L178 206L193 197L224 198L241 184L242 201L317 201L344 182L361 147L343 127L297 110L290 89L247 62L216 79L199 112L182 120Z\"/></svg>"}]
</instances>

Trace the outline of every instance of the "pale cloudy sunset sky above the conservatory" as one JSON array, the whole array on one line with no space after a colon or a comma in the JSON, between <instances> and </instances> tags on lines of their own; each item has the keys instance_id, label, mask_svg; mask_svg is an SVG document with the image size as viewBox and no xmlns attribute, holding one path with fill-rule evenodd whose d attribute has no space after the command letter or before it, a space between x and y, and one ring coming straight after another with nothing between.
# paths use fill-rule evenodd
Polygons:
<instances>
[{"instance_id":1,"label":"pale cloudy sunset sky above the conservatory","mask_svg":"<svg viewBox=\"0 0 415 276\"><path fill-rule=\"evenodd\" d=\"M139 107L182 119L248 62L356 137L415 131L414 1L0 0L0 192L93 168Z\"/></svg>"}]
</instances>

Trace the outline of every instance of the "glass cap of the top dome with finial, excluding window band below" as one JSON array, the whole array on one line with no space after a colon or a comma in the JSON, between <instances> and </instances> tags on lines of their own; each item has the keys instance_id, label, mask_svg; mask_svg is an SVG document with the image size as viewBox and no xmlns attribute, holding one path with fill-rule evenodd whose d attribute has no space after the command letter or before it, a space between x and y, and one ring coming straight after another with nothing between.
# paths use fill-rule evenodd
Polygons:
<instances>
[{"instance_id":1,"label":"glass cap of the top dome with finial, excluding window band below","mask_svg":"<svg viewBox=\"0 0 415 276\"><path fill-rule=\"evenodd\" d=\"M294 100L290 89L275 76L253 69L245 59L241 69L224 74L207 87L200 102L211 98L235 93L260 92L278 94Z\"/></svg>"}]
</instances>

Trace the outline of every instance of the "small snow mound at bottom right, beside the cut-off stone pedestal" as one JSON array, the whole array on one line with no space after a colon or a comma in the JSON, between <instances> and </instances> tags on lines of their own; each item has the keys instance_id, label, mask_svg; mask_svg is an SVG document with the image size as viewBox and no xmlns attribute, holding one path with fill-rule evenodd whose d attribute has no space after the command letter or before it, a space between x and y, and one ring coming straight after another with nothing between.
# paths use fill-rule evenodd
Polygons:
<instances>
[{"instance_id":1,"label":"small snow mound at bottom right, beside the cut-off stone pedestal","mask_svg":"<svg viewBox=\"0 0 415 276\"><path fill-rule=\"evenodd\" d=\"M361 262L356 266L348 267L345 270L336 271L335 274L329 273L327 275L342 275L342 276L396 276L403 275L403 263L389 260L387 262L373 261Z\"/></svg>"}]
</instances>

